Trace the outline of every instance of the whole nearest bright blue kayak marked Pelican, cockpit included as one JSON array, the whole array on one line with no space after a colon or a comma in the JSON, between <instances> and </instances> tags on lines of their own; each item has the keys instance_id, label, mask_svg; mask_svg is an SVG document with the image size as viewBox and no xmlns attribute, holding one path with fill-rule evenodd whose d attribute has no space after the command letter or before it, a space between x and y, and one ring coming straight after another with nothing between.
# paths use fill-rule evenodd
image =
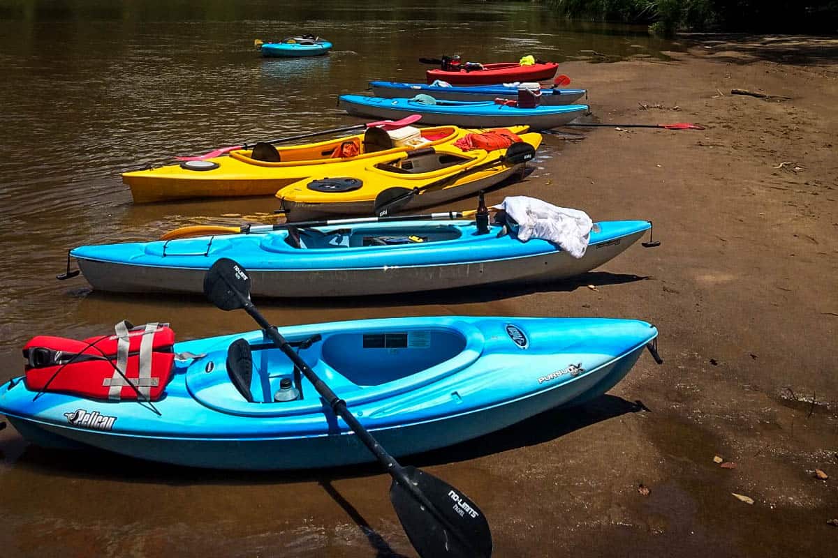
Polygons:
<instances>
[{"instance_id":1,"label":"whole nearest bright blue kayak marked Pelican, cockpit included","mask_svg":"<svg viewBox=\"0 0 838 558\"><path fill-rule=\"evenodd\" d=\"M658 335L638 320L450 315L280 330L396 456L598 397ZM252 363L232 360L228 370L228 351L235 354L231 344L239 339L250 346ZM175 343L173 352L173 374L167 371L157 401L49 391L34 397L15 378L0 386L0 414L45 447L95 447L193 467L320 468L373 460L261 330Z\"/></svg>"}]
</instances>

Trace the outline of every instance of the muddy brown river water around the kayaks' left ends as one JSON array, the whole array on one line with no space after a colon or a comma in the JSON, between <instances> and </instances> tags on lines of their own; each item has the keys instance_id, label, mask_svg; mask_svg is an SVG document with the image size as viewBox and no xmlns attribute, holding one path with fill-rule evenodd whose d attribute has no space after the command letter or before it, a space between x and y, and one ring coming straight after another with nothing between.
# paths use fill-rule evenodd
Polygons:
<instances>
[{"instance_id":1,"label":"muddy brown river water around the kayaks' left ends","mask_svg":"<svg viewBox=\"0 0 838 558\"><path fill-rule=\"evenodd\" d=\"M282 60L261 59L252 48L254 38L296 31L329 38L334 50ZM170 321L179 339L253 329L244 313L220 312L203 299L106 295L91 292L81 277L54 279L68 248L156 238L189 223L237 224L265 218L276 205L269 198L135 206L122 171L358 123L335 108L337 95L365 90L368 79L422 81L426 67L416 61L422 55L496 61L534 54L561 62L590 57L579 52L590 50L596 62L603 59L598 54L663 57L660 51L671 48L641 29L572 25L530 3L3 3L0 380L22 371L19 349L32 335L82 338L122 319ZM585 86L577 79L572 85ZM556 156L560 143L548 139L541 161ZM261 307L278 325L490 315L514 312L497 303L514 294L475 289ZM628 410L601 418L622 412ZM491 501L504 479L483 473L475 479L469 460L542 439L520 439L525 432L419 461L432 471L457 463L445 468L445 478L465 482L478 503ZM551 427L540 435L561 433ZM47 451L24 443L12 428L0 433L0 451L3 556L413 555L387 502L388 481L375 468L208 472Z\"/></svg>"}]
</instances>

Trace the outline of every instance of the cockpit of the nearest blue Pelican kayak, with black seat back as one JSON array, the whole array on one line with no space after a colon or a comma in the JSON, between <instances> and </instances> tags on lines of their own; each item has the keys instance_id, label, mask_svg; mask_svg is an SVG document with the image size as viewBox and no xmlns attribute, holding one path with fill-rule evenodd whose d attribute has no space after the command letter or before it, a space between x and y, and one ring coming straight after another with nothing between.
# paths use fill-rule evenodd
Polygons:
<instances>
[{"instance_id":1,"label":"cockpit of the nearest blue Pelican kayak, with black seat back","mask_svg":"<svg viewBox=\"0 0 838 558\"><path fill-rule=\"evenodd\" d=\"M324 403L313 385L260 334L243 338L251 355L246 371L236 370L241 361L235 344L243 341L229 338L225 346L189 365L186 386L192 397L206 407L236 415L320 412ZM394 397L460 371L477 360L484 344L480 330L463 322L456 328L344 330L289 341L350 407ZM236 386L241 378L246 389ZM287 397L288 393L295 397Z\"/></svg>"}]
</instances>

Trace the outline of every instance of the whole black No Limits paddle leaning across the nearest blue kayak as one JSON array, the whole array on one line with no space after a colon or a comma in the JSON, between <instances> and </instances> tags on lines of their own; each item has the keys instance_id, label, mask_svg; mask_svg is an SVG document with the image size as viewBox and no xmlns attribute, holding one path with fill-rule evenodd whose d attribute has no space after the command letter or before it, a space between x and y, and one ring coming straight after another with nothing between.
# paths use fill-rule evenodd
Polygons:
<instances>
[{"instance_id":1,"label":"whole black No Limits paddle leaning across the nearest blue kayak","mask_svg":"<svg viewBox=\"0 0 838 558\"><path fill-rule=\"evenodd\" d=\"M407 538L423 558L489 558L492 535L483 512L468 497L432 474L413 467L402 467L395 458L367 432L346 408L346 402L317 376L292 346L263 315L250 296L251 279L241 265L222 258L204 276L204 294L221 310L244 309L265 330L279 349L303 372L332 407L344 419L358 439L370 449L393 478L390 500Z\"/></svg>"}]
</instances>

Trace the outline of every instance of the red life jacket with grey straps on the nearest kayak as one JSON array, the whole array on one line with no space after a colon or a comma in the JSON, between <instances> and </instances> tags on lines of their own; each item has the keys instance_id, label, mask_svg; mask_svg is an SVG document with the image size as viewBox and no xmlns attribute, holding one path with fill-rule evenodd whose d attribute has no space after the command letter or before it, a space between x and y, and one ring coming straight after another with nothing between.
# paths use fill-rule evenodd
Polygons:
<instances>
[{"instance_id":1,"label":"red life jacket with grey straps on the nearest kayak","mask_svg":"<svg viewBox=\"0 0 838 558\"><path fill-rule=\"evenodd\" d=\"M157 401L172 377L174 332L168 324L116 325L116 335L85 340L50 335L23 346L26 387L111 401Z\"/></svg>"}]
</instances>

